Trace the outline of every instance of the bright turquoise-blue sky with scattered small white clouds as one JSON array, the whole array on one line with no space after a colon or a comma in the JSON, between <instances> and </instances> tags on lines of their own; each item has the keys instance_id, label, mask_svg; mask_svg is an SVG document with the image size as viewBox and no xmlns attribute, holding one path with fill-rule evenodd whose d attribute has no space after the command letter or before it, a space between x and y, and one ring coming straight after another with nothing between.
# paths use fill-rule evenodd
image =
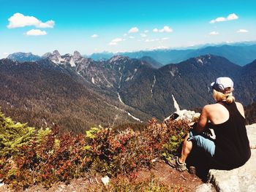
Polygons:
<instances>
[{"instance_id":1,"label":"bright turquoise-blue sky with scattered small white clouds","mask_svg":"<svg viewBox=\"0 0 256 192\"><path fill-rule=\"evenodd\" d=\"M0 58L256 40L256 1L0 0Z\"/></svg>"}]
</instances>

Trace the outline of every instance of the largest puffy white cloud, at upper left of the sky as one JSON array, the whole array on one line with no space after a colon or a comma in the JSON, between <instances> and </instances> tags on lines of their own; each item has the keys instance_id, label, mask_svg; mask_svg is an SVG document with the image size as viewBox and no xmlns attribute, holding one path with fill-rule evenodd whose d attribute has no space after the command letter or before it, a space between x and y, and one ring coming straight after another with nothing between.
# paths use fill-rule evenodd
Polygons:
<instances>
[{"instance_id":1,"label":"largest puffy white cloud, at upper left of the sky","mask_svg":"<svg viewBox=\"0 0 256 192\"><path fill-rule=\"evenodd\" d=\"M43 23L41 20L33 16L25 16L19 12L15 13L9 19L9 25L7 28L19 28L25 26L35 26L37 28L53 28L55 22L53 20L48 20Z\"/></svg>"}]
</instances>

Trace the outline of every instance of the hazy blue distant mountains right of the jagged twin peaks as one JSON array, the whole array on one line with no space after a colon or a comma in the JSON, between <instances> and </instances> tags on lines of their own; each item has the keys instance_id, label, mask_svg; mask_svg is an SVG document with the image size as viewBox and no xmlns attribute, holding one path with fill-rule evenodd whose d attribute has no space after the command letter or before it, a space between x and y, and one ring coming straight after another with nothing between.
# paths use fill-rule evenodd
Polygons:
<instances>
[{"instance_id":1,"label":"hazy blue distant mountains right of the jagged twin peaks","mask_svg":"<svg viewBox=\"0 0 256 192\"><path fill-rule=\"evenodd\" d=\"M217 45L200 47L198 49L182 49L182 50L142 50L131 53L116 53L118 55L125 55L129 58L142 58L148 56L162 65L165 64L177 64L181 61L185 61L189 58L197 57L200 55L219 55L227 58L234 64L244 66L256 59L256 45ZM115 55L114 53L94 53L89 55L89 58L93 58L96 61L106 60Z\"/></svg>"}]
</instances>

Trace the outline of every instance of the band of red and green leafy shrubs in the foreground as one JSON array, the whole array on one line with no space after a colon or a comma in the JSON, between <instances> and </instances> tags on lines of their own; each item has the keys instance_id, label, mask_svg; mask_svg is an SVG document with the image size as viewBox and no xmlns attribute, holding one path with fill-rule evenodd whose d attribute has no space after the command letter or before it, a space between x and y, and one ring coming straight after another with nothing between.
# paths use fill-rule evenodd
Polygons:
<instances>
[{"instance_id":1,"label":"band of red and green leafy shrubs in the foreground","mask_svg":"<svg viewBox=\"0 0 256 192\"><path fill-rule=\"evenodd\" d=\"M183 120L157 123L154 118L140 131L99 126L73 136L59 134L58 127L40 129L19 146L18 153L0 156L1 181L12 188L37 183L49 188L57 181L68 183L90 174L135 174L141 167L150 168L158 158L175 154L188 129Z\"/></svg>"}]
</instances>

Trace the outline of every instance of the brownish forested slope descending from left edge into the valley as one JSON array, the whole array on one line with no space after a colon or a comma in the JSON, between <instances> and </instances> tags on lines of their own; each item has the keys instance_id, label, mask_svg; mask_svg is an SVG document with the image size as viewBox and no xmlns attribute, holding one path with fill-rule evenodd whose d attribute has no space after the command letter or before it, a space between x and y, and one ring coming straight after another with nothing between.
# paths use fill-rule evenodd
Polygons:
<instances>
[{"instance_id":1,"label":"brownish forested slope descending from left edge into the valley","mask_svg":"<svg viewBox=\"0 0 256 192\"><path fill-rule=\"evenodd\" d=\"M47 127L54 123L77 133L99 124L112 126L135 121L115 101L53 69L37 63L1 60L1 110L30 126Z\"/></svg>"}]
</instances>

